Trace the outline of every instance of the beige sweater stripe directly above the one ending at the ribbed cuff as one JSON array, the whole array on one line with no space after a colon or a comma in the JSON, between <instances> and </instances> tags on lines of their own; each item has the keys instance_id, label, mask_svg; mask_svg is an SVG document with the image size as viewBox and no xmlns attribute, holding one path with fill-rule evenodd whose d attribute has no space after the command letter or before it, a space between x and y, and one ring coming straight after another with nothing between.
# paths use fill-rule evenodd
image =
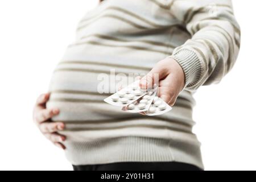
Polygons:
<instances>
[{"instance_id":1,"label":"beige sweater stripe directly above the one ending at the ribbed cuff","mask_svg":"<svg viewBox=\"0 0 256 182\"><path fill-rule=\"evenodd\" d=\"M175 47L172 44L165 44L165 43L162 43L162 42L155 42L155 41L152 41L152 40L127 40L127 39L120 39L120 38L107 36L107 35L102 35L102 34L92 34L92 35L82 36L81 39L86 39L86 38L90 38L90 37L97 37L97 38L106 39L106 40L113 40L113 41L117 41L117 42L142 42L142 43L152 44L152 45L155 45L155 46L172 47L172 48ZM73 44L73 45L76 45L76 44Z\"/></svg>"}]
</instances>

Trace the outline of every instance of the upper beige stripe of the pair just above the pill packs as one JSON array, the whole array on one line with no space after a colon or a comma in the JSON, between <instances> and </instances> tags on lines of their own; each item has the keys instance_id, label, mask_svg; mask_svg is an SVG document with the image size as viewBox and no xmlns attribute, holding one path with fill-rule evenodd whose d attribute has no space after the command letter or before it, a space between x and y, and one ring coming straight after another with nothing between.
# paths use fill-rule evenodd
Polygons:
<instances>
[{"instance_id":1,"label":"upper beige stripe of the pair just above the pill packs","mask_svg":"<svg viewBox=\"0 0 256 182\"><path fill-rule=\"evenodd\" d=\"M132 66L132 65L121 65L121 64L112 64L112 63L104 63L104 61L61 61L59 65L61 64L92 64L92 65L104 65L108 67L114 67L114 68L127 68L127 69L140 69L145 71L150 71L152 68L145 68L145 67L138 67L138 66Z\"/></svg>"}]
</instances>

